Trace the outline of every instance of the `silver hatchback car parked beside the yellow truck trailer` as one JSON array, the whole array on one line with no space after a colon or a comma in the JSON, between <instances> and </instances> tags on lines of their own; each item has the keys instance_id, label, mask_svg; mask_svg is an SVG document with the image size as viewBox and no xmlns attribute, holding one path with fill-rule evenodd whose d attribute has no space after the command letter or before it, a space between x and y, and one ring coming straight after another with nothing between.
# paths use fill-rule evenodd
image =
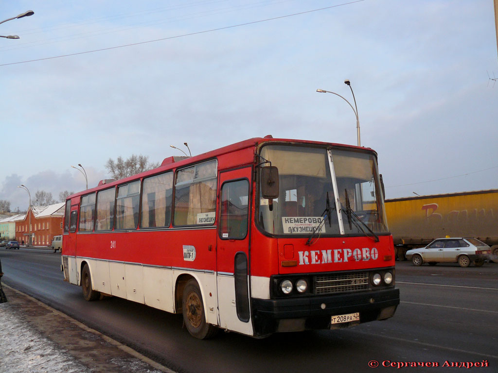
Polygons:
<instances>
[{"instance_id":1,"label":"silver hatchback car parked beside the yellow truck trailer","mask_svg":"<svg viewBox=\"0 0 498 373\"><path fill-rule=\"evenodd\" d=\"M424 262L431 266L451 262L469 267L474 262L476 267L481 267L490 254L490 247L476 238L438 238L426 247L408 250L406 259L411 260L414 266L421 266Z\"/></svg>"}]
</instances>

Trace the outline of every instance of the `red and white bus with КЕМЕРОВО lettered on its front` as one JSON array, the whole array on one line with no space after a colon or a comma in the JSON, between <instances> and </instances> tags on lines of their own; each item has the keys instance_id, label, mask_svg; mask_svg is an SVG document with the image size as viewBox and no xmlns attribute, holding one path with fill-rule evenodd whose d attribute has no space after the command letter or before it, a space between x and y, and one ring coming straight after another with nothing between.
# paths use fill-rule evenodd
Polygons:
<instances>
[{"instance_id":1,"label":"red and white bus with \u041a\u0415\u041c\u0415\u0420\u041e\u0412\u041e lettered on its front","mask_svg":"<svg viewBox=\"0 0 498 373\"><path fill-rule=\"evenodd\" d=\"M394 248L372 149L252 138L67 198L64 280L182 313L197 338L393 316Z\"/></svg>"}]
</instances>

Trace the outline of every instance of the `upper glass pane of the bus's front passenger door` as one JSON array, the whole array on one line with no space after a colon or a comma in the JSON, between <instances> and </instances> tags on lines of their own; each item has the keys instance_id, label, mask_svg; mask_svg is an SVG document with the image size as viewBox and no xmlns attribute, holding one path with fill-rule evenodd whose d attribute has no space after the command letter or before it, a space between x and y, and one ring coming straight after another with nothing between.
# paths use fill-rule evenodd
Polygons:
<instances>
[{"instance_id":1,"label":"upper glass pane of the bus's front passenger door","mask_svg":"<svg viewBox=\"0 0 498 373\"><path fill-rule=\"evenodd\" d=\"M244 239L248 233L249 182L225 183L221 192L220 237Z\"/></svg>"}]
</instances>

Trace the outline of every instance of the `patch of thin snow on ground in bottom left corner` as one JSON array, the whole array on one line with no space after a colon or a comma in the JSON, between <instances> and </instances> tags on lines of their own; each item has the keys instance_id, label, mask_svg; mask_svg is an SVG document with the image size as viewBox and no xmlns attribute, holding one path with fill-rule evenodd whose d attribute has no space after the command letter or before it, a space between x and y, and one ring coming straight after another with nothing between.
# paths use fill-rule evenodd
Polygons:
<instances>
[{"instance_id":1,"label":"patch of thin snow on ground in bottom left corner","mask_svg":"<svg viewBox=\"0 0 498 373\"><path fill-rule=\"evenodd\" d=\"M9 303L0 304L0 373L90 373L69 353L43 337Z\"/></svg>"}]
</instances>

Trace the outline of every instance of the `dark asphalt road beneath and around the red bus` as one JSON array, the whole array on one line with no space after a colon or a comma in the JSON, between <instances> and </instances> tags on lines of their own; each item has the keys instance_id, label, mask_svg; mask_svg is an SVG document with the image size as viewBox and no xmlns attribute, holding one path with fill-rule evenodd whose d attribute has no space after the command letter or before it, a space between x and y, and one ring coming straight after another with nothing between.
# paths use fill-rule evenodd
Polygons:
<instances>
[{"instance_id":1,"label":"dark asphalt road beneath and around the red bus","mask_svg":"<svg viewBox=\"0 0 498 373\"><path fill-rule=\"evenodd\" d=\"M406 364L406 372L455 371L451 365L477 362L487 367L473 370L498 372L498 264L397 262L401 303L389 320L262 340L220 333L200 341L182 329L181 315L119 298L85 301L80 287L62 280L59 253L0 249L0 259L4 283L177 372L371 372L372 361L377 371Z\"/></svg>"}]
</instances>

